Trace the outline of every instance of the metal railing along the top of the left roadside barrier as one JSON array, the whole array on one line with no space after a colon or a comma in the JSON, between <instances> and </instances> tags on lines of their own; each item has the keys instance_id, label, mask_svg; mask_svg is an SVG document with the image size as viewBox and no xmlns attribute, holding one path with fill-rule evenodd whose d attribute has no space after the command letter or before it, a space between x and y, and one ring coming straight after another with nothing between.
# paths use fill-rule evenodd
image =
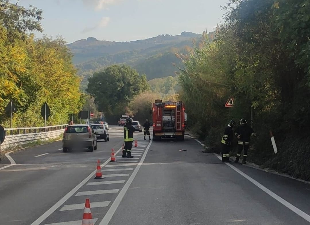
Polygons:
<instances>
[{"instance_id":1,"label":"metal railing along the top of the left roadside barrier","mask_svg":"<svg viewBox=\"0 0 310 225\"><path fill-rule=\"evenodd\" d=\"M20 135L20 134L32 134L49 132L53 130L63 130L68 124L62 124L57 126L43 126L43 127L21 127L21 128L4 128L6 131L6 137L10 135Z\"/></svg>"}]
</instances>

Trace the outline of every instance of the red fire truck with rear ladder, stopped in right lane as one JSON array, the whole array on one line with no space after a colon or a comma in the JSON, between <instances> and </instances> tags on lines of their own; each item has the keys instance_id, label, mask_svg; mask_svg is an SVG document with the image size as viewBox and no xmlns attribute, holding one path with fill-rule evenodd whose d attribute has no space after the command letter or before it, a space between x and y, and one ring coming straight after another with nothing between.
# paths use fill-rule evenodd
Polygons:
<instances>
[{"instance_id":1,"label":"red fire truck with rear ladder, stopped in right lane","mask_svg":"<svg viewBox=\"0 0 310 225\"><path fill-rule=\"evenodd\" d=\"M184 140L185 107L183 102L162 102L157 99L150 110L153 119L153 141L161 138Z\"/></svg>"}]
</instances>

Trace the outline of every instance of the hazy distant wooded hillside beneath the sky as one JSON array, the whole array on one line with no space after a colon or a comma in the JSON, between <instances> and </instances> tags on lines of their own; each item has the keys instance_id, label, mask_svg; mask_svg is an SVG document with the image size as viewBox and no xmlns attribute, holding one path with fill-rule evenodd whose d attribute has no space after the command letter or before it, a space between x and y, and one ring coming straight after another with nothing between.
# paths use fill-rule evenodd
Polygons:
<instances>
[{"instance_id":1,"label":"hazy distant wooded hillside beneath the sky","mask_svg":"<svg viewBox=\"0 0 310 225\"><path fill-rule=\"evenodd\" d=\"M111 64L127 64L139 73L145 73L148 80L175 76L172 63L181 65L174 53L185 52L185 46L192 46L201 34L182 32L180 35L159 35L154 38L131 42L99 41L87 38L68 44L73 52L73 63L83 77L81 88L87 86L88 77ZM214 33L209 33L214 39Z\"/></svg>"}]
</instances>

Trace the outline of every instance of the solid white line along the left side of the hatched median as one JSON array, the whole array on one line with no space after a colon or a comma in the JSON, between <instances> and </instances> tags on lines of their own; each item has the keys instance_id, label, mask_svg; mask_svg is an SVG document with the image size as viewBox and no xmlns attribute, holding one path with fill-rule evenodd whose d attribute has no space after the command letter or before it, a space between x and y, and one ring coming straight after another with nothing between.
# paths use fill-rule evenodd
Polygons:
<instances>
[{"instance_id":1,"label":"solid white line along the left side of the hatched median","mask_svg":"<svg viewBox=\"0 0 310 225\"><path fill-rule=\"evenodd\" d=\"M118 149L116 154L118 152L122 151L122 148ZM111 160L111 157L108 158L101 167L107 165ZM74 187L71 191L69 191L64 197L62 197L58 202L55 203L49 210L47 210L45 213L43 213L38 219L36 219L33 223L30 225L40 225L48 216L50 216L55 210L57 210L62 204L64 204L65 201L67 201L75 192L78 191L88 180L93 178L97 170L94 170L88 177L86 177L84 180L82 180L81 183L79 183L76 187ZM94 219L93 219L94 220ZM94 220L95 221L95 220ZM78 221L78 225L80 225L82 221ZM56 224L56 225L71 225L71 224ZM73 223L72 225L75 225Z\"/></svg>"}]
</instances>

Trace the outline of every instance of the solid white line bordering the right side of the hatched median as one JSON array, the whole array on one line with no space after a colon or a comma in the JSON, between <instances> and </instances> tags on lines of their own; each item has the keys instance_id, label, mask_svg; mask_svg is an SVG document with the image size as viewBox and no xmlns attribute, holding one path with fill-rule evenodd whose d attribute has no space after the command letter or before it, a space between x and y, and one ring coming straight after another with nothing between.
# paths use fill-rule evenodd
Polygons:
<instances>
[{"instance_id":1,"label":"solid white line bordering the right side of the hatched median","mask_svg":"<svg viewBox=\"0 0 310 225\"><path fill-rule=\"evenodd\" d=\"M114 200L113 204L109 208L108 212L105 214L104 218L100 221L100 223L98 225L107 225L110 222L110 220L113 217L117 207L121 203L121 201L122 201L123 197L125 196L129 186L131 185L132 181L135 179L135 176L137 175L141 165L143 164L144 159L146 157L146 154L148 153L148 149L150 148L151 144L152 144L152 140L148 144L148 147L145 149L145 152L144 152L139 164L136 166L135 170L133 171L133 173L131 174L131 176L129 177L127 182L125 183L122 190L117 195L116 199Z\"/></svg>"}]
</instances>

